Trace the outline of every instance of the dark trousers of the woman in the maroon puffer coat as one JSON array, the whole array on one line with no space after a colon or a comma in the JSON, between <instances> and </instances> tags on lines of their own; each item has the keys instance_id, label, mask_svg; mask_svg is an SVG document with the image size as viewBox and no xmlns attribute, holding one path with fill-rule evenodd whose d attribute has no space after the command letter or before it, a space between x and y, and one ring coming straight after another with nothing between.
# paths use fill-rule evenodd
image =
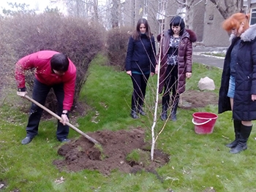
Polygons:
<instances>
[{"instance_id":1,"label":"dark trousers of the woman in the maroon puffer coat","mask_svg":"<svg viewBox=\"0 0 256 192\"><path fill-rule=\"evenodd\" d=\"M165 75L165 91L162 96L162 100L169 106L170 93L172 92L172 104L178 103L178 66L167 66ZM174 103L173 103L174 102Z\"/></svg>"}]
</instances>

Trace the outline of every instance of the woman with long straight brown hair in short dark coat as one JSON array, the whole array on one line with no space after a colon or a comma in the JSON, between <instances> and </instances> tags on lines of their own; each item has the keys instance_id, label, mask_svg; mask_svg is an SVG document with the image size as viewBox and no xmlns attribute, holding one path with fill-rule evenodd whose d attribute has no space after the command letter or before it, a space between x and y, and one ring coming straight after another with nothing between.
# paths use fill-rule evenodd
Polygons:
<instances>
[{"instance_id":1,"label":"woman with long straight brown hair in short dark coat","mask_svg":"<svg viewBox=\"0 0 256 192\"><path fill-rule=\"evenodd\" d=\"M138 20L135 31L129 37L125 69L132 78L132 118L146 115L143 111L146 85L149 75L155 72L156 47L154 37L151 34L148 21L144 18ZM137 113L138 112L138 113Z\"/></svg>"}]
</instances>

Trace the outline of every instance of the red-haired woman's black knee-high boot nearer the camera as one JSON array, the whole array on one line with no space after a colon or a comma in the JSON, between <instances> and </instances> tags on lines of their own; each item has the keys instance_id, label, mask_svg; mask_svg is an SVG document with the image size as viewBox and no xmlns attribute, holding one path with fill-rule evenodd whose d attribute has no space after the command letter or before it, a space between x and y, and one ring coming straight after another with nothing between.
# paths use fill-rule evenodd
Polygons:
<instances>
[{"instance_id":1,"label":"red-haired woman's black knee-high boot nearer the camera","mask_svg":"<svg viewBox=\"0 0 256 192\"><path fill-rule=\"evenodd\" d=\"M247 149L247 140L251 134L252 126L244 126L241 124L241 132L236 147L231 148L230 153L239 153Z\"/></svg>"}]
</instances>

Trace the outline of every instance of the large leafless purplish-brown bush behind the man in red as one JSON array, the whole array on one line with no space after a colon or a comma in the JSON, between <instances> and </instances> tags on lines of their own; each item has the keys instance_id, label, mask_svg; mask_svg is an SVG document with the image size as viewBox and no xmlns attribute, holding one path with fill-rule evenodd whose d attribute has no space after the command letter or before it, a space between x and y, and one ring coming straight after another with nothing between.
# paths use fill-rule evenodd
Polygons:
<instances>
[{"instance_id":1,"label":"large leafless purplish-brown bush behind the man in red","mask_svg":"<svg viewBox=\"0 0 256 192\"><path fill-rule=\"evenodd\" d=\"M15 15L2 18L0 24L0 62L4 64L1 66L4 69L1 70L1 77L12 74L18 59L30 53L56 50L67 54L77 67L75 106L86 82L89 64L104 45L105 33L102 27L89 20L64 17L54 12ZM13 75L11 78L14 79ZM34 74L28 74L26 86L30 91L33 79ZM55 100L54 94L50 93L45 105L55 110Z\"/></svg>"}]
</instances>

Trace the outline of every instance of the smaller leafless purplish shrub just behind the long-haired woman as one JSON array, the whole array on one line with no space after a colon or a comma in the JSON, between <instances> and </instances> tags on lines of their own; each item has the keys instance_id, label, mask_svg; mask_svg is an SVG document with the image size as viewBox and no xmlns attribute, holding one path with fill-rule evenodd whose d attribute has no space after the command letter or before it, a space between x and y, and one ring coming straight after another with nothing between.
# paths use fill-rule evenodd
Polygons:
<instances>
[{"instance_id":1,"label":"smaller leafless purplish shrub just behind the long-haired woman","mask_svg":"<svg viewBox=\"0 0 256 192\"><path fill-rule=\"evenodd\" d=\"M132 32L131 27L113 28L108 31L107 52L110 65L124 70L127 45Z\"/></svg>"}]
</instances>

